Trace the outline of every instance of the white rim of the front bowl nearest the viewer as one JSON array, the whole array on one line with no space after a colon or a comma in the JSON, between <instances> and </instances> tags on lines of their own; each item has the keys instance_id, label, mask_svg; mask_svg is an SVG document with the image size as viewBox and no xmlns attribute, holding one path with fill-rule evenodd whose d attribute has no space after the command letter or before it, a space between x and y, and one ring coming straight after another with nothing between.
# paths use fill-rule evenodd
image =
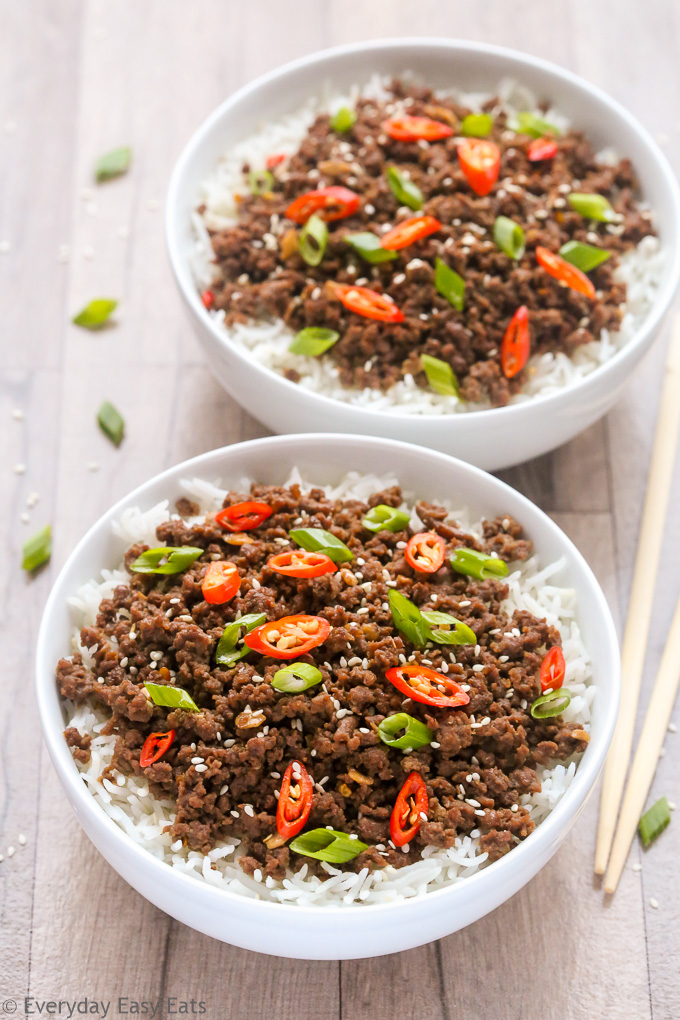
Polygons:
<instances>
[{"instance_id":1,"label":"white rim of the front bowl nearest the viewer","mask_svg":"<svg viewBox=\"0 0 680 1020\"><path fill-rule=\"evenodd\" d=\"M312 446L316 444L332 444L342 440L347 442L351 439L352 443L355 444L367 444L376 448L377 450L382 449L385 453L385 458L388 455L393 457L399 455L400 450L402 451L413 451L415 448L411 444L401 443L396 440L383 440L376 439L374 437L360 437L352 436L347 437L341 434L307 434L304 436L279 436L279 437L268 437L260 440L252 440L248 443L238 444L238 448L241 451L256 451L261 447L273 446L281 447L282 449L295 446L296 443ZM219 903L220 900L224 905L228 905L229 902L233 901L236 898L240 904L244 903L245 897L230 891L228 888L217 888L213 885L208 885L203 883L200 879L193 877L191 875L184 874L176 871L167 864L165 861L161 861L154 857L149 851L145 850L142 846L135 843L126 833L110 818L96 803L92 794L86 787L81 773L71 757L70 751L66 746L66 742L63 737L63 729L61 725L55 724L56 720L54 717L53 709L50 706L50 702L54 704L56 696L56 681L55 681L55 668L56 662L52 661L49 652L49 639L48 634L51 630L51 617L55 610L56 605L61 599L64 599L68 593L62 592L64 584L64 579L71 568L74 561L77 561L80 556L88 547L91 540L97 534L102 528L110 528L111 522L116 520L122 511L128 506L142 506L146 505L146 493L147 490L152 486L155 486L162 481L168 482L168 492L171 489L171 482L174 479L180 477L193 477L193 476L211 476L211 465L219 464L221 458L223 458L228 450L233 450L236 447L223 447L218 450L213 450L207 454L201 454L191 460L185 461L174 467L170 467L160 474L155 475L153 478L144 482L135 489L127 496L119 500L114 506L112 506L100 519L88 530L85 537L76 545L75 549L71 552L70 556L67 558L63 567L61 568L57 579L54 582L50 596L47 600L43 619L41 622L40 632L38 636L38 646L36 653L36 683L37 683L37 695L38 695L38 707L40 712L40 719L43 728L43 734L50 753L52 762L55 765L57 773L61 779L61 782L66 786L67 793L69 795L69 800L74 806L77 805L79 809L89 817L89 819L96 825L96 827L107 834L107 836L113 842L113 844L118 844L121 846L127 855L132 855L136 862L139 862L141 870L153 869L159 880L165 880L167 883L178 883L178 887L182 888L186 894L192 894L195 899L197 898L216 898L216 902ZM532 504L526 497L512 490L510 486L506 482L501 481L499 478L494 478L491 475L486 474L480 468L473 467L463 461L457 460L457 458L450 457L446 454L436 453L434 451L422 451L423 455L431 458L435 462L438 462L443 467L450 467L452 462L454 462L459 469L466 473L469 473L473 477L483 478L485 483L494 490L500 497L502 497L504 492L510 491L513 494L513 499L519 500L520 505L525 508L527 516L538 515L543 518L548 530L553 536L558 538L560 541L566 541L568 545L571 546L571 555L574 561L579 565L580 569L584 572L587 581L590 584L595 600L597 602L598 610L601 614L603 625L605 629L604 640L607 646L607 657L614 664L619 661L619 647L616 635L616 630L614 627L614 622L610 613L609 606L605 599L605 596L599 589L597 580L595 579L590 567L581 556L579 551L573 546L570 540L564 534L561 528L551 520L547 515L545 515L538 507ZM214 468L218 471L217 466ZM216 475L213 473L212 477ZM102 564L102 566L108 566L108 564ZM111 564L113 566L113 564ZM72 594L72 593L71 593ZM66 647L67 639L64 635L64 648ZM58 697L58 696L57 696ZM61 708L61 699L59 698L59 708ZM536 827L536 829L521 844L515 847L512 852L501 860L495 861L492 865L484 868L474 875L470 875L464 879L462 882L455 882L449 885L441 886L437 889L433 889L430 892L426 892L419 897L410 898L409 900L398 900L393 903L384 904L363 904L360 907L349 908L350 910L356 909L359 911L358 917L363 916L366 912L369 912L371 916L375 914L383 914L385 912L396 911L398 909L403 909L409 903L420 901L423 899L431 899L434 897L441 898L444 896L455 896L456 889L460 889L465 886L468 891L474 890L474 888L480 883L483 885L485 881L485 876L487 876L491 871L493 872L496 882L499 882L503 874L507 873L510 875L510 870L514 869L519 863L518 855L535 854L537 855L541 849L545 850L551 846L552 843L559 838L559 833L561 829L564 828L565 824L568 822L569 817L572 814L573 806L577 806L579 801L583 801L595 782L595 779L599 773L601 765L609 748L609 743L614 730L614 724L616 722L616 714L618 708L618 692L617 697L614 699L614 703L609 706L609 713L604 719L603 731L599 734L598 740L591 742L586 749L583 758L581 759L579 766L576 770L576 775L573 781L570 783L569 787L565 792L564 796L561 798L556 807L551 811L550 815ZM61 723L63 723L63 718L60 716ZM348 908L338 907L337 905L330 904L324 906L303 906L303 905L292 905L292 904L281 904L272 903L265 900L254 900L249 901L256 905L256 909L271 913L272 919L278 919L281 921L284 917L286 911L295 911L296 917L314 917L318 918L323 913L330 915L335 915L336 912L341 911L343 914L347 913Z\"/></svg>"}]
</instances>

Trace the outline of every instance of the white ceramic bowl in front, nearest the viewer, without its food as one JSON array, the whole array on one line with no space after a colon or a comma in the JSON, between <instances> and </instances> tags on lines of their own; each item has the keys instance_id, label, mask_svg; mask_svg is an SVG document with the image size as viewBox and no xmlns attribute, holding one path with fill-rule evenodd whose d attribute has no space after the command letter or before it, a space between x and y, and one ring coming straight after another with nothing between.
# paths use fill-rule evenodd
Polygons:
<instances>
[{"instance_id":1,"label":"white ceramic bowl in front, nearest the viewer, without its food","mask_svg":"<svg viewBox=\"0 0 680 1020\"><path fill-rule=\"evenodd\" d=\"M113 567L124 546L111 522L128 506L147 509L180 495L179 479L201 476L234 483L244 475L282 482L294 465L319 483L337 482L351 465L361 472L394 471L404 487L428 500L454 499L476 515L510 513L532 538L542 563L565 556L561 582L578 593L579 624L592 658L598 693L591 740L573 782L547 818L510 854L463 881L388 905L298 907L246 899L175 871L133 843L106 815L80 776L63 738L64 714L55 682L57 660L70 652L68 596L102 567ZM50 594L37 653L38 702L50 757L79 821L125 881L178 920L244 949L299 959L353 959L412 949L470 924L508 900L553 856L597 778L616 720L620 665L614 624L587 563L542 511L505 482L440 453L369 437L290 436L255 440L203 454L164 471L121 500L73 550Z\"/></svg>"}]
</instances>

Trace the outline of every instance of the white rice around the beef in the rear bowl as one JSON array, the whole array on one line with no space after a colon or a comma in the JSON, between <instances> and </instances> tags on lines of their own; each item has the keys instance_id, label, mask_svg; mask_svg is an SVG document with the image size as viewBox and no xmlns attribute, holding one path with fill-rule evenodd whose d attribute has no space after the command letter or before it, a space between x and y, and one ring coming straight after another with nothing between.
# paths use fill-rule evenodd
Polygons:
<instances>
[{"instance_id":1,"label":"white rice around the beef in the rear bowl","mask_svg":"<svg viewBox=\"0 0 680 1020\"><path fill-rule=\"evenodd\" d=\"M282 152L289 155L294 153L318 113L324 111L332 113L341 106L353 105L359 95L384 100L386 99L384 86L385 81L375 76L364 88L355 88L350 95L329 95L326 92L318 98L310 99L296 112L261 124L255 134L225 153L214 171L202 184L197 206L204 204L205 212L202 215L197 212L193 217L195 240L190 252L190 261L199 290L203 291L211 286L215 271L214 253L207 227L219 228L236 221L234 196L244 191L242 173L244 163L262 166L266 156L271 153ZM455 91L448 94L473 109L478 108L481 102L488 98L481 94ZM511 114L520 110L536 109L535 97L515 82L503 81L499 86L498 95L503 108ZM399 106L399 103L391 104L395 111ZM541 115L561 130L569 126L567 118L558 110L550 109ZM338 139L337 155L341 158L344 144L342 139ZM603 162L616 160L616 154L612 150L603 151L598 156ZM327 183L320 178L318 187L323 187ZM608 228L613 232L618 230L616 224L611 224ZM272 238L275 239L285 230L283 221L272 217L268 232ZM461 231L464 230L465 224L461 226ZM266 243L265 236L263 244ZM528 366L528 380L522 392L511 399L511 403L521 403L539 394L547 395L573 386L627 344L640 327L656 300L663 257L659 239L655 237L644 238L634 251L623 256L616 277L627 285L628 292L623 305L624 315L620 329L614 334L603 329L599 340L584 344L572 357L562 352L532 357ZM368 271L363 266L359 268L358 274L366 274ZM455 397L422 390L416 386L412 375L406 375L402 381L384 392L368 387L364 390L351 389L341 384L337 368L330 358L310 358L291 354L289 345L294 334L281 320L250 321L227 327L224 324L223 311L217 310L211 312L211 315L215 322L223 326L225 336L248 351L255 361L281 374L293 369L300 375L299 386L334 400L399 414L451 414L481 410L490 406L488 403L465 403Z\"/></svg>"}]
</instances>

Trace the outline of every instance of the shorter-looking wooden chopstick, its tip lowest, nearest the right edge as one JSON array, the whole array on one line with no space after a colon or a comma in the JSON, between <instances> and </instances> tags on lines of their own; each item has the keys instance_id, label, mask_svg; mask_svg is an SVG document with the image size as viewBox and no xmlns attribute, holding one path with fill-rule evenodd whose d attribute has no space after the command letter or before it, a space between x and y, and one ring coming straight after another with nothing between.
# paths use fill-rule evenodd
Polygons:
<instances>
[{"instance_id":1,"label":"shorter-looking wooden chopstick, its tip lowest, nearest the right edge","mask_svg":"<svg viewBox=\"0 0 680 1020\"><path fill-rule=\"evenodd\" d=\"M637 823L657 769L671 712L680 685L680 599L651 693L639 744L630 769L630 779L612 847L605 891L614 892L624 869Z\"/></svg>"}]
</instances>

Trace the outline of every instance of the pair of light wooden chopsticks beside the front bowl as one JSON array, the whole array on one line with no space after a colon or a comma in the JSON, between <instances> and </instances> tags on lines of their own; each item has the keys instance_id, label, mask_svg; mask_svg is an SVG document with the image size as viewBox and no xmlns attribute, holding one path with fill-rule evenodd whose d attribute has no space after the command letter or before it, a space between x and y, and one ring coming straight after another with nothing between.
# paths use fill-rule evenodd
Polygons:
<instances>
[{"instance_id":1,"label":"pair of light wooden chopsticks beside the front bowl","mask_svg":"<svg viewBox=\"0 0 680 1020\"><path fill-rule=\"evenodd\" d=\"M649 708L633 760L630 781L616 828L628 760L633 745L644 654L671 491L680 426L680 315L666 360L655 448L642 512L626 629L623 639L621 707L607 763L595 846L595 874L605 876L605 891L614 892L635 835L651 785L662 744L680 683L680 601L671 625ZM615 835L616 829L616 835ZM611 852L611 853L610 853ZM609 862L609 867L608 867Z\"/></svg>"}]
</instances>

